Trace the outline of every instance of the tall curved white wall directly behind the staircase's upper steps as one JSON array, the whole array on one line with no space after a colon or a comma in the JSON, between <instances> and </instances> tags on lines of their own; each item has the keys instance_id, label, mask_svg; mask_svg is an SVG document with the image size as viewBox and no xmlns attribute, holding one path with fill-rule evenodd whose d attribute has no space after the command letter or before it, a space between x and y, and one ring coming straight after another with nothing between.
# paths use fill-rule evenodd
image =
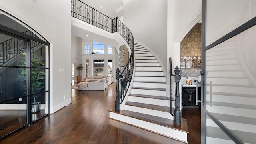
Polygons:
<instances>
[{"instance_id":1,"label":"tall curved white wall directly behind the staircase's upper steps","mask_svg":"<svg viewBox=\"0 0 256 144\"><path fill-rule=\"evenodd\" d=\"M153 50L167 68L167 0L130 0L124 6L124 24L135 40Z\"/></svg>"}]
</instances>

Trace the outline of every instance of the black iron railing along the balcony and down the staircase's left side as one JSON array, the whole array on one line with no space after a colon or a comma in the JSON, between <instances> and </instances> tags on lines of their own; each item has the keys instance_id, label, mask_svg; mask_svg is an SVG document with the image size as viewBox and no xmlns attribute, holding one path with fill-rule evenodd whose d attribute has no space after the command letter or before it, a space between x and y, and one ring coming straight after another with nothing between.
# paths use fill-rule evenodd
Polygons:
<instances>
[{"instance_id":1,"label":"black iron railing along the balcony and down the staircase's left side","mask_svg":"<svg viewBox=\"0 0 256 144\"><path fill-rule=\"evenodd\" d=\"M116 110L119 110L119 104L121 104L124 100L133 74L134 38L132 33L120 20L118 20L117 17L114 19L109 18L80 0L71 0L71 16L108 32L118 32L124 38L124 40L126 40L127 44L132 50L130 58L126 66L122 69L122 72L119 68L117 68L116 71ZM119 79L121 81L121 92L119 92Z\"/></svg>"}]
</instances>

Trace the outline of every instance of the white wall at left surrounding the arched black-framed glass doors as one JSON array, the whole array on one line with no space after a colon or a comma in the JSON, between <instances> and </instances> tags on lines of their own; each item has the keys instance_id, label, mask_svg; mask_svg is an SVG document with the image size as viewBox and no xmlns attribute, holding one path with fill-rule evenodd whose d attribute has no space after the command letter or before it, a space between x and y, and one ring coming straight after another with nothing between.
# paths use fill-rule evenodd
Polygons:
<instances>
[{"instance_id":1,"label":"white wall at left surrounding the arched black-framed glass doors","mask_svg":"<svg viewBox=\"0 0 256 144\"><path fill-rule=\"evenodd\" d=\"M70 1L0 0L0 3L0 9L28 24L50 42L50 113L56 112L71 102ZM59 73L59 68L64 72Z\"/></svg>"}]
</instances>

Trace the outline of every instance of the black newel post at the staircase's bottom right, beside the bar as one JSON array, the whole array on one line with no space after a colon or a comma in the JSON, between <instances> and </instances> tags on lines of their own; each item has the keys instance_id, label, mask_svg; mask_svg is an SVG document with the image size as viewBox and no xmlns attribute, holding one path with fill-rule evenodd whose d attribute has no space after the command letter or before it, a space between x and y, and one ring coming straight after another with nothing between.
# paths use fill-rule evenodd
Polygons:
<instances>
[{"instance_id":1,"label":"black newel post at the staircase's bottom right, beside the bar","mask_svg":"<svg viewBox=\"0 0 256 144\"><path fill-rule=\"evenodd\" d=\"M175 88L175 110L174 110L174 124L181 125L181 114L180 114L180 89L179 89L179 82L180 82L180 70L178 66L176 66L174 70L175 76L174 81L176 84Z\"/></svg>"}]
</instances>

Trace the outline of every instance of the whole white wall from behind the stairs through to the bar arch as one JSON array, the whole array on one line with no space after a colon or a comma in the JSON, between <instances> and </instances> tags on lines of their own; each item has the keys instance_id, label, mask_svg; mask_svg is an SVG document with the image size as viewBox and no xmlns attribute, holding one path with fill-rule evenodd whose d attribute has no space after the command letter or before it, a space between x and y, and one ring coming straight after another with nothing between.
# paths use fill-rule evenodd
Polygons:
<instances>
[{"instance_id":1,"label":"whole white wall from behind the stairs through to the bar arch","mask_svg":"<svg viewBox=\"0 0 256 144\"><path fill-rule=\"evenodd\" d=\"M169 57L174 71L180 67L181 40L201 19L201 0L130 0L123 8L124 24L160 58L170 88Z\"/></svg>"}]
</instances>

